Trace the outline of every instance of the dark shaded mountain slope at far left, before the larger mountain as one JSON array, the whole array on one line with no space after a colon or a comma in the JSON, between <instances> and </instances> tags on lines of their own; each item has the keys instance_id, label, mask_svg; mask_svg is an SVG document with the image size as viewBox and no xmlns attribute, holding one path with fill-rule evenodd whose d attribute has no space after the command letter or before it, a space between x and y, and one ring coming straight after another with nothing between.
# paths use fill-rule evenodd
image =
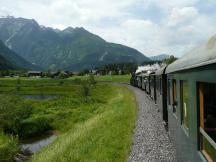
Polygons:
<instances>
[{"instance_id":1,"label":"dark shaded mountain slope at far left, before the larger mountain","mask_svg":"<svg viewBox=\"0 0 216 162\"><path fill-rule=\"evenodd\" d=\"M0 70L15 69L36 69L36 67L11 51L0 41Z\"/></svg>"}]
</instances>

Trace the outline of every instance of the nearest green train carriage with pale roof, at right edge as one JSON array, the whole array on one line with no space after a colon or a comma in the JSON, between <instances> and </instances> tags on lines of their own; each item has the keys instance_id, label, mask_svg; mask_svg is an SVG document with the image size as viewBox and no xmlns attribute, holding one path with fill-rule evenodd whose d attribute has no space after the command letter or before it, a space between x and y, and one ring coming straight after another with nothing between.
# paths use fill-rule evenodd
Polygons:
<instances>
[{"instance_id":1,"label":"nearest green train carriage with pale roof, at right edge","mask_svg":"<svg viewBox=\"0 0 216 162\"><path fill-rule=\"evenodd\" d=\"M169 65L166 74L178 161L216 162L216 36Z\"/></svg>"}]
</instances>

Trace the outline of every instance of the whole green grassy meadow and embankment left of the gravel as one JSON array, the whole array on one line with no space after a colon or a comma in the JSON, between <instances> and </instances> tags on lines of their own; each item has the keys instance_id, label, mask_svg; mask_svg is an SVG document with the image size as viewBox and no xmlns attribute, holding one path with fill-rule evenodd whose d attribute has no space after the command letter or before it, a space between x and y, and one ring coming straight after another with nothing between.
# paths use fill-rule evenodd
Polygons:
<instances>
[{"instance_id":1,"label":"whole green grassy meadow and embankment left of the gravel","mask_svg":"<svg viewBox=\"0 0 216 162\"><path fill-rule=\"evenodd\" d=\"M90 95L84 97L76 79L0 79L0 86L1 93L8 94L7 99L0 102L3 105L16 102L12 107L17 110L5 113L5 109L10 108L0 106L0 116L6 123L0 127L4 132L0 135L0 152L5 152L0 154L0 159L10 159L18 149L17 139L8 134L26 138L47 130L57 130L60 134L54 143L35 154L32 161L126 159L136 116L134 96L126 88L96 84L91 86ZM14 93L16 95L11 96ZM23 94L56 94L59 97L44 101L24 100L20 97ZM20 113L23 105L25 111ZM16 122L10 118L14 114L19 117Z\"/></svg>"}]
</instances>

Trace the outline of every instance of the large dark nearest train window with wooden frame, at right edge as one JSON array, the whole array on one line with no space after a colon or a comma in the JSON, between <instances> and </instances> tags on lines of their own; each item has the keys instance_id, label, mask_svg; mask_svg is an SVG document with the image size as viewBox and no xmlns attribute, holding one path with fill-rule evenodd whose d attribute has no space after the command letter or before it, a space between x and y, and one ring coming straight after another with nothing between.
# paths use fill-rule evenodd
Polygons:
<instances>
[{"instance_id":1,"label":"large dark nearest train window with wooden frame, at right edge","mask_svg":"<svg viewBox=\"0 0 216 162\"><path fill-rule=\"evenodd\" d=\"M200 150L208 161L216 161L216 84L199 84Z\"/></svg>"}]
</instances>

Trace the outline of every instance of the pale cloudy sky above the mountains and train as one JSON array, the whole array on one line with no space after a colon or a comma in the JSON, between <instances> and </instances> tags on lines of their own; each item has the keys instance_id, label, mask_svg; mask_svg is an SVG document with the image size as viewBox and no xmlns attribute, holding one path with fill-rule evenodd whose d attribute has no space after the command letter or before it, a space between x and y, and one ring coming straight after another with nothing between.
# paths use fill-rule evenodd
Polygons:
<instances>
[{"instance_id":1,"label":"pale cloudy sky above the mountains and train","mask_svg":"<svg viewBox=\"0 0 216 162\"><path fill-rule=\"evenodd\" d=\"M181 56L216 33L216 0L0 0L0 16L84 27L147 56Z\"/></svg>"}]
</instances>

